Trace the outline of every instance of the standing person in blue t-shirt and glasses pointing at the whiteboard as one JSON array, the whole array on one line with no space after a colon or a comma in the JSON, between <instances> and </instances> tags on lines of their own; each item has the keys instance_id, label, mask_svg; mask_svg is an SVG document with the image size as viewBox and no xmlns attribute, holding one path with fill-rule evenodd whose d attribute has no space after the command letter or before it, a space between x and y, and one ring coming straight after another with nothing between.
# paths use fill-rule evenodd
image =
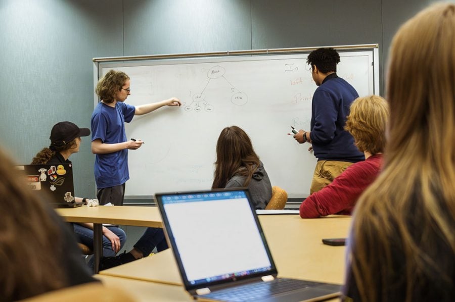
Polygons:
<instances>
[{"instance_id":1,"label":"standing person in blue t-shirt and glasses pointing at the whiteboard","mask_svg":"<svg viewBox=\"0 0 455 302\"><path fill-rule=\"evenodd\" d=\"M95 181L101 205L123 205L125 182L129 179L128 149L141 147L141 140L127 140L125 122L163 106L181 106L175 97L141 106L125 104L130 95L130 79L122 71L110 70L98 81L100 97L92 114L92 152L95 154Z\"/></svg>"}]
</instances>

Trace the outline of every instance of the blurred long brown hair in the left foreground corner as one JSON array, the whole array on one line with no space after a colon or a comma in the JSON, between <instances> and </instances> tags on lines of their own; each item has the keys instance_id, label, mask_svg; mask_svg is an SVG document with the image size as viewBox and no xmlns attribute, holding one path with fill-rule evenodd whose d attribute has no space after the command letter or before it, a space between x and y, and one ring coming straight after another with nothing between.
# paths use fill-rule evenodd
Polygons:
<instances>
[{"instance_id":1,"label":"blurred long brown hair in the left foreground corner","mask_svg":"<svg viewBox=\"0 0 455 302\"><path fill-rule=\"evenodd\" d=\"M67 284L56 261L61 232L49 205L24 189L0 150L0 299L18 300Z\"/></svg>"}]
</instances>

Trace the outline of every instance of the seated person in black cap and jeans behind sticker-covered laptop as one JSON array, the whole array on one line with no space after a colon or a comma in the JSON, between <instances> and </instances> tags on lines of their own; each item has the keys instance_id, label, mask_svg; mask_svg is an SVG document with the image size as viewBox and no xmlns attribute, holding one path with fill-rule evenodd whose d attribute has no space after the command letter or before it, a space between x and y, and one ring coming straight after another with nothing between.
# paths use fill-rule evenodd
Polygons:
<instances>
[{"instance_id":1,"label":"seated person in black cap and jeans behind sticker-covered laptop","mask_svg":"<svg viewBox=\"0 0 455 302\"><path fill-rule=\"evenodd\" d=\"M33 158L32 165L38 164L71 164L69 157L79 152L81 136L90 135L88 128L79 128L71 122L59 122L52 127L51 145L43 148ZM86 198L75 197L76 202L85 202ZM74 233L78 242L93 249L93 224L73 223ZM115 226L103 226L103 255L115 256L126 241L125 232ZM88 262L93 267L94 261Z\"/></svg>"}]
</instances>

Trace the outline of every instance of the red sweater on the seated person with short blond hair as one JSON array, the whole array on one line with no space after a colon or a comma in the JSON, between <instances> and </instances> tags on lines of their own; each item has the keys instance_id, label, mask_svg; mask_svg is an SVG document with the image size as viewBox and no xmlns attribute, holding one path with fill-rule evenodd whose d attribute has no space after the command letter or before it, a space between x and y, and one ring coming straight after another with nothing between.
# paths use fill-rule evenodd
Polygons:
<instances>
[{"instance_id":1,"label":"red sweater on the seated person with short blond hair","mask_svg":"<svg viewBox=\"0 0 455 302\"><path fill-rule=\"evenodd\" d=\"M376 154L348 167L331 184L303 200L300 217L351 215L357 198L378 176L381 164L382 154Z\"/></svg>"}]
</instances>

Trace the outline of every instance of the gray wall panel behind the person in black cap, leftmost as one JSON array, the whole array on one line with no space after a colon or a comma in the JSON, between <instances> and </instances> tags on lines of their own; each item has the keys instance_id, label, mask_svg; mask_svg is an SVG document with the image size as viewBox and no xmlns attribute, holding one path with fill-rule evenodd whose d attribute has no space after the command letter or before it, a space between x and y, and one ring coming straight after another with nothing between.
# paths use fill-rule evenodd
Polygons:
<instances>
[{"instance_id":1,"label":"gray wall panel behind the person in black cap, leftmost","mask_svg":"<svg viewBox=\"0 0 455 302\"><path fill-rule=\"evenodd\" d=\"M109 15L109 18L102 16ZM0 141L19 163L49 145L51 127L90 127L93 63L123 55L121 1L8 0L0 10ZM73 155L76 194L94 196L90 138Z\"/></svg>"}]
</instances>

